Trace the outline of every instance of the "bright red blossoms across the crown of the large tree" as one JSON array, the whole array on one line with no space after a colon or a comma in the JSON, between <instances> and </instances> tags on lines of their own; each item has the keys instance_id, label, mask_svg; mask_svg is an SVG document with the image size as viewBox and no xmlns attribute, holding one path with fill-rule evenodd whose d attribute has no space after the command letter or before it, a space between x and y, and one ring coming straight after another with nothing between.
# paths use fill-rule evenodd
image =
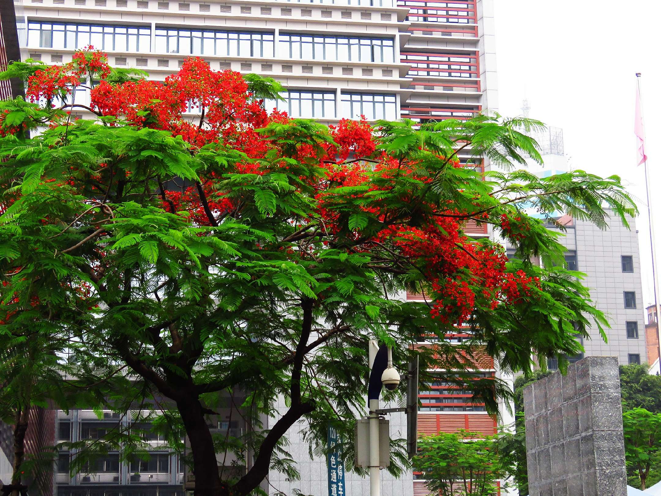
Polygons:
<instances>
[{"instance_id":1,"label":"bright red blossoms across the crown of the large tree","mask_svg":"<svg viewBox=\"0 0 661 496\"><path fill-rule=\"evenodd\" d=\"M539 289L539 280L524 271L516 274L506 271L507 259L502 249L488 243L475 243L464 235L461 222L466 212L453 210L451 204L424 205L426 210L450 217L432 216L432 220L420 223L415 217L416 205L412 204L408 218L400 217L395 224L387 222L393 218L391 206L373 192L395 189L403 175L408 175L412 184L429 183L433 176L414 162L400 163L395 157L377 153L375 133L364 118L360 121L342 119L336 126L330 126L332 144L321 140L320 145L298 144L294 151L290 148L287 154L278 153L284 151L286 145L264 139L259 130L272 122L288 124L290 118L284 112L268 114L264 102L251 97L249 85L239 73L212 71L208 63L195 57L187 58L178 73L165 81L111 83L106 80L109 73L104 54L90 47L75 54L67 65L37 71L28 83L28 95L33 101L44 97L53 99L71 93L82 77L98 75L101 81L91 90L91 106L98 114L182 136L192 145L192 153L196 153L198 147L217 143L247 155L246 160L227 165L227 172L263 175L292 166L293 162L288 159L268 159L269 154L293 155L298 163L322 167L321 174L316 168L314 174L301 174L297 179L316 192L315 214L323 220L324 243L333 243L334 237L342 235L358 242L355 251L381 250L387 245L395 257L422 272L428 282L425 290L433 300L431 315L442 323L461 325L476 306L493 309L502 304L518 304ZM280 146L282 150L274 149ZM366 157L369 163L360 160ZM450 161L449 165L461 167L457 160ZM114 173L116 171L112 171ZM187 212L191 222L200 225L211 223L207 210L216 216L233 212L237 208L235 202L239 202L230 200L227 191L219 188L224 173L219 169L205 171L199 185L186 186L179 191L160 191L163 208L173 213ZM108 167L102 164L93 179L102 181L108 174ZM68 175L63 177L63 183L65 181L70 181ZM362 191L369 194L356 193L352 199L362 202L365 218L383 222L384 227L366 239L362 232L366 221L347 219L344 214L346 193L338 191L338 186L367 186ZM200 190L206 205L203 205ZM414 190L403 193L400 200L413 202L412 198L416 198ZM529 229L520 217L503 215L500 221L502 232L512 239L523 239ZM299 259L313 255L311 251L315 248L312 246L282 248L292 259Z\"/></svg>"}]
</instances>

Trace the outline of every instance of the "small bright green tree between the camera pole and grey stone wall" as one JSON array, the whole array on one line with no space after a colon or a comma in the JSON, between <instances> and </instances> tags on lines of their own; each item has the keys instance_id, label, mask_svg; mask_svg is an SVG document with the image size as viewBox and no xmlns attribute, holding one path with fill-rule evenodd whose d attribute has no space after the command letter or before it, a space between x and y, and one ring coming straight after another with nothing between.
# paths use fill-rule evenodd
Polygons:
<instances>
[{"instance_id":1,"label":"small bright green tree between the camera pole and grey stone wall","mask_svg":"<svg viewBox=\"0 0 661 496\"><path fill-rule=\"evenodd\" d=\"M430 493L441 496L488 496L498 494L498 481L512 467L498 452L496 436L459 431L421 438L414 472L426 479Z\"/></svg>"}]
</instances>

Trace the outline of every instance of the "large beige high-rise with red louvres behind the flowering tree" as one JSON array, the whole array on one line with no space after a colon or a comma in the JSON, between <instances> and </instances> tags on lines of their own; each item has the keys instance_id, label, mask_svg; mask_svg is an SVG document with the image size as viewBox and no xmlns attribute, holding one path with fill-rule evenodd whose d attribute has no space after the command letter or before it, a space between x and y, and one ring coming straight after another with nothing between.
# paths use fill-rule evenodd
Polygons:
<instances>
[{"instance_id":1,"label":"large beige high-rise with red louvres behind the flowering tree","mask_svg":"<svg viewBox=\"0 0 661 496\"><path fill-rule=\"evenodd\" d=\"M285 101L277 103L280 110L325 123L361 115L368 120L403 117L434 122L465 119L486 108L497 108L492 0L15 3L22 6L18 19L22 59L65 63L76 49L93 45L108 54L111 65L139 67L153 79L164 79L186 56L202 56L212 69L278 79L289 90L283 95ZM77 103L89 103L85 99L89 99L85 91L77 93ZM488 163L477 165L485 166ZM486 226L474 222L466 230L471 235L488 235ZM459 342L463 337L458 334L449 339ZM479 358L475 367L476 374L496 374L486 356ZM457 394L440 381L427 386L420 392L420 432L496 431L494 418L481 405L473 405L470 395ZM59 426L68 424L71 436L83 435L87 422L112 421L83 419L81 415L87 415L83 412L71 415L60 414L59 418ZM393 437L405 437L405 425L403 414L391 415ZM321 495L327 491L326 462L307 461L307 443L298 429L290 430L289 451L300 462L301 481L289 482L272 472L264 488L287 494L295 488ZM127 472L130 468L114 459L104 462L104 470L112 475L103 483L98 477L69 480L62 472L57 475L58 495L134 494L131 485L136 486L135 491L151 491L150 496L171 494L173 485L182 483L175 458L163 458L162 468L167 466L167 474L159 472L161 462L157 461L153 474L157 477L148 482L132 480ZM64 471L65 461L61 464L60 471ZM398 480L383 477L383 495L426 493L424 481L414 478L410 472ZM347 494L367 494L368 488L365 479L348 475Z\"/></svg>"}]
</instances>

